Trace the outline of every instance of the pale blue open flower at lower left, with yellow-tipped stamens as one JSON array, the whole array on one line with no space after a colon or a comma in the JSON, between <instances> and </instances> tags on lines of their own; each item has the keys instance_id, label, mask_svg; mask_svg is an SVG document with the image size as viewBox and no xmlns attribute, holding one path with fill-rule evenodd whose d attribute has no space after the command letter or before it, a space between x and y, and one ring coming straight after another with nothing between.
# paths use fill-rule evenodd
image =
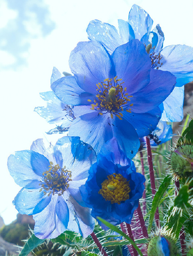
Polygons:
<instances>
[{"instance_id":1,"label":"pale blue open flower at lower left, with yellow-tipped stamens","mask_svg":"<svg viewBox=\"0 0 193 256\"><path fill-rule=\"evenodd\" d=\"M38 238L55 238L66 229L83 237L92 233L94 219L84 207L79 187L85 184L95 161L90 145L68 136L48 149L37 139L31 150L9 156L10 175L23 187L13 204L19 213L33 215Z\"/></svg>"}]
</instances>

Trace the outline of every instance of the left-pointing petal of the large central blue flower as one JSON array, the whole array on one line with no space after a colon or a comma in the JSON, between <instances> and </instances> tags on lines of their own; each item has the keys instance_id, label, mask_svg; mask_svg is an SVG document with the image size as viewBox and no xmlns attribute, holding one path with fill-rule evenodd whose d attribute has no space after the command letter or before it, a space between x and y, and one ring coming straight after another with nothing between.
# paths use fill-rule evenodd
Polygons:
<instances>
[{"instance_id":1,"label":"left-pointing petal of the large central blue flower","mask_svg":"<svg viewBox=\"0 0 193 256\"><path fill-rule=\"evenodd\" d=\"M79 87L74 76L58 79L53 82L51 89L62 102L72 106L88 105L88 99L93 97L93 94L87 93Z\"/></svg>"}]
</instances>

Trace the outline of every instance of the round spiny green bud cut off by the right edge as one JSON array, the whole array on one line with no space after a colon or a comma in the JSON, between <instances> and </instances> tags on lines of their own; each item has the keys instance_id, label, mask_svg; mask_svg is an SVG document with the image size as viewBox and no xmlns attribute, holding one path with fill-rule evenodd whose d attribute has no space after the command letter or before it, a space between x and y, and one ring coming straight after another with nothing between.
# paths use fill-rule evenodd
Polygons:
<instances>
[{"instance_id":1,"label":"round spiny green bud cut off by the right edge","mask_svg":"<svg viewBox=\"0 0 193 256\"><path fill-rule=\"evenodd\" d=\"M171 154L170 165L178 178L193 177L193 145L181 145Z\"/></svg>"}]
</instances>

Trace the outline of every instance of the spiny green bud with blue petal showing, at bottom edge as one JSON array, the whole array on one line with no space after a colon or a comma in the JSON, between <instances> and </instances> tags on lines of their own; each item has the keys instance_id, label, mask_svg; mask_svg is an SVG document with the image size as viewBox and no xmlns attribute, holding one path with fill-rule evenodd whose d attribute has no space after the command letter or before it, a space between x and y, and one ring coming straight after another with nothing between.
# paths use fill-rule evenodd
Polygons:
<instances>
[{"instance_id":1,"label":"spiny green bud with blue petal showing, at bottom edge","mask_svg":"<svg viewBox=\"0 0 193 256\"><path fill-rule=\"evenodd\" d=\"M148 256L177 256L177 248L171 238L155 236L150 240L147 248Z\"/></svg>"}]
</instances>

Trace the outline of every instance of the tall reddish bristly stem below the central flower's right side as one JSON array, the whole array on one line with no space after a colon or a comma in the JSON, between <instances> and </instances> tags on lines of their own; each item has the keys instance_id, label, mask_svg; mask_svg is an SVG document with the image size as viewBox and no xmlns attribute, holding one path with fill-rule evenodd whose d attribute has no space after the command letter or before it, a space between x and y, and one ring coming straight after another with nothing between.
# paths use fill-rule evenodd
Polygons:
<instances>
[{"instance_id":1,"label":"tall reddish bristly stem below the central flower's right side","mask_svg":"<svg viewBox=\"0 0 193 256\"><path fill-rule=\"evenodd\" d=\"M146 137L146 145L147 145L147 160L148 160L149 172L150 172L151 192L152 192L152 198L154 198L154 195L156 193L156 183L155 183L155 177L154 177L154 171L153 171L153 161L152 161L150 139L147 137ZM158 208L156 209L156 213L155 213L155 221L156 221L157 228L159 228L159 210L158 210Z\"/></svg>"}]
</instances>

